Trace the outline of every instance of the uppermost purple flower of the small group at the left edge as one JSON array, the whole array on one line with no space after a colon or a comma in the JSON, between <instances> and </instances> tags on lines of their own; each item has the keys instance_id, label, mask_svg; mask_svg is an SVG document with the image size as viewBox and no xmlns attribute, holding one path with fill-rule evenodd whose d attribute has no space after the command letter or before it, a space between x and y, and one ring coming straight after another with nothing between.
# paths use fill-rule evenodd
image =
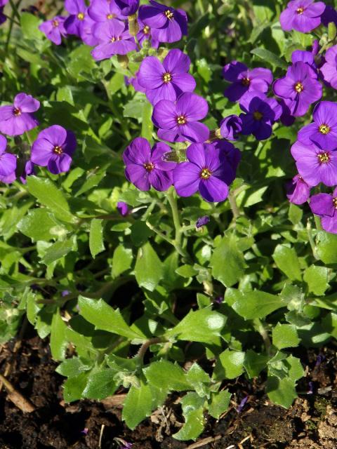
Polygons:
<instances>
[{"instance_id":1,"label":"uppermost purple flower of the small group at the left edge","mask_svg":"<svg viewBox=\"0 0 337 449\"><path fill-rule=\"evenodd\" d=\"M40 107L40 102L32 95L18 93L12 106L0 107L0 132L7 135L21 135L39 125L33 112Z\"/></svg>"}]
</instances>

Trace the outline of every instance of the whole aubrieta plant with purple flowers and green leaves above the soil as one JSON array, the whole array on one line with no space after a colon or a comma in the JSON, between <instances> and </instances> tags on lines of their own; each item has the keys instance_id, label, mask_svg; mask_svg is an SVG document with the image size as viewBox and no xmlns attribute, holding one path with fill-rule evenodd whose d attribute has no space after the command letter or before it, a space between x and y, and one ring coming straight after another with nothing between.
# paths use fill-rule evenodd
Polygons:
<instances>
[{"instance_id":1,"label":"whole aubrieta plant with purple flowers and green leaves above the soil","mask_svg":"<svg viewBox=\"0 0 337 449\"><path fill-rule=\"evenodd\" d=\"M1 341L131 429L176 391L194 440L239 376L288 408L337 336L336 5L58 6L0 0Z\"/></svg>"}]
</instances>

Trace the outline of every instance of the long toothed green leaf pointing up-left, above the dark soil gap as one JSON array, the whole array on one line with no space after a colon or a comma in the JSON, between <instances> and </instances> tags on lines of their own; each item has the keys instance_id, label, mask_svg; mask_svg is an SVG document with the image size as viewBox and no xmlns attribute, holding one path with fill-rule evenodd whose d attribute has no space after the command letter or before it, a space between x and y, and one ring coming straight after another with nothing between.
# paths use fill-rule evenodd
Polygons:
<instances>
[{"instance_id":1,"label":"long toothed green leaf pointing up-left, above the dark soil gap","mask_svg":"<svg viewBox=\"0 0 337 449\"><path fill-rule=\"evenodd\" d=\"M142 333L136 333L124 321L119 309L113 309L103 300L92 300L88 297L79 296L79 310L81 316L95 325L96 329L107 330L131 340L145 340Z\"/></svg>"}]
</instances>

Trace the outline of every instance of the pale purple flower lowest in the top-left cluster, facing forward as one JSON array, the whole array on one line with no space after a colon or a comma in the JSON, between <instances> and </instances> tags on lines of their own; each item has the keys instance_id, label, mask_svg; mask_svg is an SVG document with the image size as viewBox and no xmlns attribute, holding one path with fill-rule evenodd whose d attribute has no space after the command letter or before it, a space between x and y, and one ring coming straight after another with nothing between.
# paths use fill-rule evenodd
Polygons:
<instances>
[{"instance_id":1,"label":"pale purple flower lowest in the top-left cluster, facing forward","mask_svg":"<svg viewBox=\"0 0 337 449\"><path fill-rule=\"evenodd\" d=\"M119 20L109 20L95 27L93 34L97 37L98 46L91 51L91 55L97 61L109 59L112 55L126 55L129 51L136 50L136 42L128 33L124 23Z\"/></svg>"}]
</instances>

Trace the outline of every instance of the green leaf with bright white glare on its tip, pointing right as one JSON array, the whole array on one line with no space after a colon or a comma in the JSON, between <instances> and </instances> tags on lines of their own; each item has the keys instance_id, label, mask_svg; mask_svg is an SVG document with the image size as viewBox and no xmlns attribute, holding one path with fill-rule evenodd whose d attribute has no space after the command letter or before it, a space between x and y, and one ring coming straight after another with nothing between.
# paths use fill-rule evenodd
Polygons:
<instances>
[{"instance_id":1,"label":"green leaf with bright white glare on its tip, pointing right","mask_svg":"<svg viewBox=\"0 0 337 449\"><path fill-rule=\"evenodd\" d=\"M225 326L225 316L211 309L191 310L166 336L178 336L179 340L213 343Z\"/></svg>"}]
</instances>

